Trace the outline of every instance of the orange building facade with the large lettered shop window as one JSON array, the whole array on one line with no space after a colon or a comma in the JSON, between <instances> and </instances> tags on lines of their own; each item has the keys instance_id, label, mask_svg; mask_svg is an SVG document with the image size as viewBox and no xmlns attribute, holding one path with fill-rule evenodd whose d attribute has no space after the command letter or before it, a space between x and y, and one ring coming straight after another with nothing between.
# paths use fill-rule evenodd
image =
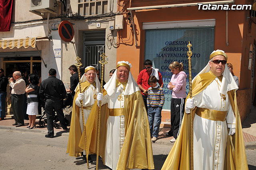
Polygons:
<instances>
[{"instance_id":1,"label":"orange building facade with the large lettered shop window","mask_svg":"<svg viewBox=\"0 0 256 170\"><path fill-rule=\"evenodd\" d=\"M118 30L116 61L129 61L136 79L144 69L146 59L153 61L163 75L165 105L163 114L170 115L171 91L167 89L172 76L168 65L174 60L184 63L188 41L192 43L192 78L204 68L213 50L224 50L228 62L233 65L234 75L239 78L237 91L241 120L250 113L254 102L256 24L250 20L250 10L199 10L202 0L120 0L118 9L124 15L124 29ZM231 6L231 1L226 3ZM212 4L225 5L224 1ZM166 5L181 4L166 8ZM236 0L236 5L252 4L248 0ZM155 6L151 7L150 6ZM202 6L201 6L202 7ZM134 36L135 32L135 36ZM188 78L188 77L187 77ZM188 85L188 81L187 81ZM187 88L188 91L188 88ZM166 121L163 120L162 121Z\"/></svg>"}]
</instances>

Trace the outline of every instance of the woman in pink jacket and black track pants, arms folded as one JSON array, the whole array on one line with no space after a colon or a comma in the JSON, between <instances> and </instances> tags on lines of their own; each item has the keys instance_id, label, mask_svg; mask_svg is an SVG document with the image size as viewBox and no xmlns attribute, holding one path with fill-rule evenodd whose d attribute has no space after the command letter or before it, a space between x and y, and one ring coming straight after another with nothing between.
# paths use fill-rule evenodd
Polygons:
<instances>
[{"instance_id":1,"label":"woman in pink jacket and black track pants, arms folded","mask_svg":"<svg viewBox=\"0 0 256 170\"><path fill-rule=\"evenodd\" d=\"M184 114L186 99L186 73L183 71L183 64L177 61L169 65L172 70L172 78L168 88L172 90L171 100L171 130L166 135L173 136L170 142L175 142L180 132L180 126Z\"/></svg>"}]
</instances>

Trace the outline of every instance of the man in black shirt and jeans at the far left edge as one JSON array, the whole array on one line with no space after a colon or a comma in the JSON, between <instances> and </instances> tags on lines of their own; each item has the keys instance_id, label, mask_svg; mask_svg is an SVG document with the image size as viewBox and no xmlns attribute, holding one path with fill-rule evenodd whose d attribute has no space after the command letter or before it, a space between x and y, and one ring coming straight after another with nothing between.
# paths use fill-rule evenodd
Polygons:
<instances>
[{"instance_id":1,"label":"man in black shirt and jeans at the far left edge","mask_svg":"<svg viewBox=\"0 0 256 170\"><path fill-rule=\"evenodd\" d=\"M5 99L6 99L6 86L8 79L4 76L4 70L0 68L0 120L5 117Z\"/></svg>"}]
</instances>

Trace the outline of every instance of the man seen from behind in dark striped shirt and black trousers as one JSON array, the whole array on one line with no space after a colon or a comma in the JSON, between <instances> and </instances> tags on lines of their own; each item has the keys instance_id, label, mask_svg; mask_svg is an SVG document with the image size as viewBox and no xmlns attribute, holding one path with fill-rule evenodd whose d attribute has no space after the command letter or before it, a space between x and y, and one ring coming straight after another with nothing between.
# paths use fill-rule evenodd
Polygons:
<instances>
[{"instance_id":1,"label":"man seen from behind in dark striped shirt and black trousers","mask_svg":"<svg viewBox=\"0 0 256 170\"><path fill-rule=\"evenodd\" d=\"M46 134L45 137L53 138L54 110L57 112L57 116L60 120L62 129L67 129L66 119L61 108L61 99L65 98L66 89L63 82L56 78L56 70L54 68L49 70L49 77L42 81L39 89L39 96L45 101L45 112L47 116L48 129L48 134Z\"/></svg>"}]
</instances>

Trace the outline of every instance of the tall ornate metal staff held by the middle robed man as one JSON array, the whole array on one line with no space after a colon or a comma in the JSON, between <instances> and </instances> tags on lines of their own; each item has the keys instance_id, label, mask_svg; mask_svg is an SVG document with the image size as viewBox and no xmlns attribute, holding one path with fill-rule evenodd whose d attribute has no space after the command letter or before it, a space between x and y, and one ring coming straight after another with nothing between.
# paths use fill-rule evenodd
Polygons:
<instances>
[{"instance_id":1,"label":"tall ornate metal staff held by the middle robed man","mask_svg":"<svg viewBox=\"0 0 256 170\"><path fill-rule=\"evenodd\" d=\"M106 55L105 53L101 54L100 57L102 59L99 61L101 64L101 80L100 80L100 92L102 93L103 88L103 72L104 72L104 65L107 64ZM98 164L99 164L99 146L100 146L100 115L101 115L101 101L99 106L99 117L98 117L98 133L97 133L97 158L96 158L96 170L98 170Z\"/></svg>"}]
</instances>

